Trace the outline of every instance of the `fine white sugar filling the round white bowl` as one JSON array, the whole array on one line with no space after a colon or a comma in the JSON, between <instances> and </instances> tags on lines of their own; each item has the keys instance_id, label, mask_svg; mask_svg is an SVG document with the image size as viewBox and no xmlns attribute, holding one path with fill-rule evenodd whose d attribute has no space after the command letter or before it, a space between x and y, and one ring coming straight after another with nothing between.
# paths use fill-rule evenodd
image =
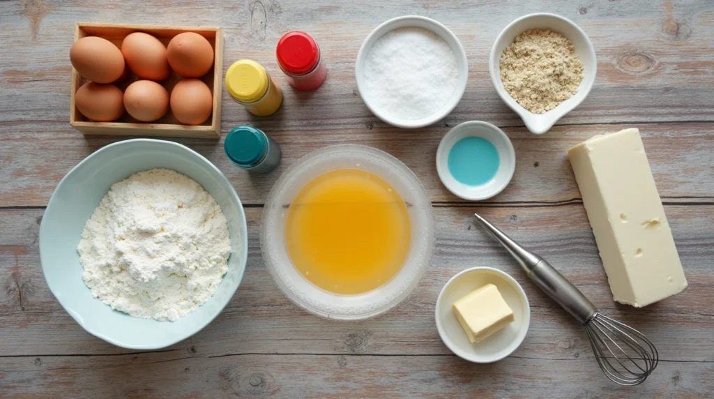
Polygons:
<instances>
[{"instance_id":1,"label":"fine white sugar filling the round white bowl","mask_svg":"<svg viewBox=\"0 0 714 399\"><path fill-rule=\"evenodd\" d=\"M432 31L401 28L388 32L364 63L365 96L388 116L416 120L437 113L458 82L456 56Z\"/></svg>"}]
</instances>

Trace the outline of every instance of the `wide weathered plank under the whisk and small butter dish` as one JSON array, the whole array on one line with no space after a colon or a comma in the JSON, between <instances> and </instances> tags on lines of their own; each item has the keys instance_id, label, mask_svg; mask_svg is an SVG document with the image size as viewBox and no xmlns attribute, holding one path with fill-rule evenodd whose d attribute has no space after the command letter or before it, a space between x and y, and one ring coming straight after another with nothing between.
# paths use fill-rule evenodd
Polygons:
<instances>
[{"instance_id":1,"label":"wide weathered plank under the whisk and small butter dish","mask_svg":"<svg viewBox=\"0 0 714 399\"><path fill-rule=\"evenodd\" d=\"M647 308L615 304L580 204L541 207L435 208L436 253L413 295L382 317L335 323L308 315L286 299L263 266L258 244L261 208L246 208L249 256L238 293L193 338L171 350L226 353L444 355L433 321L448 278L471 266L501 268L531 302L531 328L515 355L538 359L590 358L582 328L523 276L471 218L478 211L514 239L536 249L570 278L603 313L643 331L665 360L714 361L714 206L666 206L689 281L688 291ZM85 333L49 293L39 266L40 210L0 211L0 355L129 353ZM79 240L79 238L78 238ZM289 333L288 333L289 332ZM1 363L1 362L0 362Z\"/></svg>"}]
</instances>

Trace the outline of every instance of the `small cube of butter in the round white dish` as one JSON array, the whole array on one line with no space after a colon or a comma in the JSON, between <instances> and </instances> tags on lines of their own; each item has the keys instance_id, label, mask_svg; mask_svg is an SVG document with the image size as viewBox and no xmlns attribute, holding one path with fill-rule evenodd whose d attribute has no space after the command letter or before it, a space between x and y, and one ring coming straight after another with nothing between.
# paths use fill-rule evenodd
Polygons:
<instances>
[{"instance_id":1,"label":"small cube of butter in the round white dish","mask_svg":"<svg viewBox=\"0 0 714 399\"><path fill-rule=\"evenodd\" d=\"M454 302L453 313L471 343L483 340L514 320L513 310L491 283Z\"/></svg>"}]
</instances>

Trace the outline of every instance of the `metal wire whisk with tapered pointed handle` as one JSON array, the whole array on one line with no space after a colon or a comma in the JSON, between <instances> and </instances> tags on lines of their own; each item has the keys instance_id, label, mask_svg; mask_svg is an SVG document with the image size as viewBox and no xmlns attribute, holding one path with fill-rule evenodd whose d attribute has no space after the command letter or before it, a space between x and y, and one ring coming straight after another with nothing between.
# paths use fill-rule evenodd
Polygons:
<instances>
[{"instance_id":1,"label":"metal wire whisk with tapered pointed handle","mask_svg":"<svg viewBox=\"0 0 714 399\"><path fill-rule=\"evenodd\" d=\"M475 213L478 221L521 264L528 278L585 327L595 359L603 373L620 385L643 383L659 361L655 345L638 330L601 315L583 293L550 263L526 251L503 231Z\"/></svg>"}]
</instances>

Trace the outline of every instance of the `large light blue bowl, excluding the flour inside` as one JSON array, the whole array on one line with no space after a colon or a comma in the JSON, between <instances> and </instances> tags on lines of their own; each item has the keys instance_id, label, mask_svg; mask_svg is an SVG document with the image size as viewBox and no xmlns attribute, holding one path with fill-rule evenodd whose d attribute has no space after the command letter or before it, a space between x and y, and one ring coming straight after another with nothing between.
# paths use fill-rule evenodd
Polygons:
<instances>
[{"instance_id":1,"label":"large light blue bowl, excluding the flour inside","mask_svg":"<svg viewBox=\"0 0 714 399\"><path fill-rule=\"evenodd\" d=\"M84 223L109 187L152 168L174 169L201 184L221 206L231 237L228 273L218 290L208 302L175 322L134 318L92 297L82 280L77 253ZM241 283L248 253L246 216L226 176L186 146L149 138L110 144L69 171L49 200L39 239L47 285L67 313L89 333L114 345L141 350L172 345L211 323Z\"/></svg>"}]
</instances>

